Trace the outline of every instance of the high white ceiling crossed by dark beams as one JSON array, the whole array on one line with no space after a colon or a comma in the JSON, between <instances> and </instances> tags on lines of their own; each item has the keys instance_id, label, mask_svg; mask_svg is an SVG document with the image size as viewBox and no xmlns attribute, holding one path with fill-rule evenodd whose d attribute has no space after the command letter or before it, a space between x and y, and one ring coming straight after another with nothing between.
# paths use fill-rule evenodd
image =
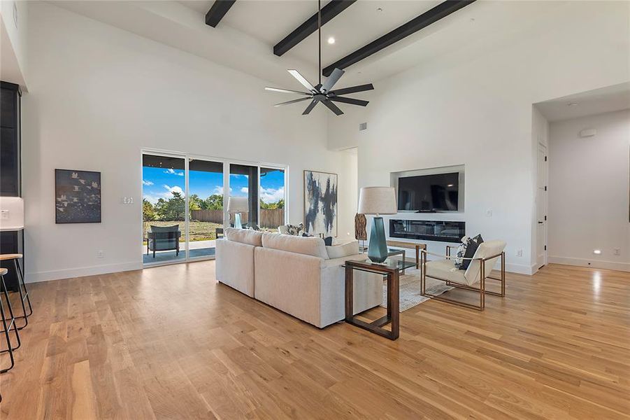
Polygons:
<instances>
[{"instance_id":1,"label":"high white ceiling crossed by dark beams","mask_svg":"<svg viewBox=\"0 0 630 420\"><path fill-rule=\"evenodd\" d=\"M205 23L212 0L61 0L57 6L171 45L287 88L286 69L317 80L317 34L282 57L273 45L317 11L314 0L237 0L216 28ZM327 1L322 1L325 5ZM387 34L441 1L359 0L322 27L322 66ZM561 1L476 1L345 69L338 87L382 80L458 52L471 57L545 18ZM382 10L378 10L381 8ZM327 38L334 36L333 45Z\"/></svg>"}]
</instances>

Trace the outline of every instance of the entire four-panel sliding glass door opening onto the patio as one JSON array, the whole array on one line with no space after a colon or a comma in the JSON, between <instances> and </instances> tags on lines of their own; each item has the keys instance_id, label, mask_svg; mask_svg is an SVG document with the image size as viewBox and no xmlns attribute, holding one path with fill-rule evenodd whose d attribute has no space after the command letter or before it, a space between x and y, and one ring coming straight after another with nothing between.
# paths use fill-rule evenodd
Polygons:
<instances>
[{"instance_id":1,"label":"entire four-panel sliding glass door opening onto the patio","mask_svg":"<svg viewBox=\"0 0 630 420\"><path fill-rule=\"evenodd\" d=\"M286 221L286 179L284 166L143 151L143 263L214 258L237 214L242 228L275 232Z\"/></svg>"}]
</instances>

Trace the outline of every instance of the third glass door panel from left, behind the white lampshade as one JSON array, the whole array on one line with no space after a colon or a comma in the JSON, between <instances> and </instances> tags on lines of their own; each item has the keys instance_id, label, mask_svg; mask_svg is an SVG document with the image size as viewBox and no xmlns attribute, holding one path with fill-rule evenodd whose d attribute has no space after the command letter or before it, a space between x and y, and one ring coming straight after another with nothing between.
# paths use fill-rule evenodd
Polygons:
<instances>
[{"instance_id":1,"label":"third glass door panel from left, behind the white lampshade","mask_svg":"<svg viewBox=\"0 0 630 420\"><path fill-rule=\"evenodd\" d=\"M230 197L248 197L248 211L238 211L241 214L243 228L258 225L258 167L250 165L229 165L229 195ZM229 223L234 226L234 216L237 213L227 209Z\"/></svg>"}]
</instances>

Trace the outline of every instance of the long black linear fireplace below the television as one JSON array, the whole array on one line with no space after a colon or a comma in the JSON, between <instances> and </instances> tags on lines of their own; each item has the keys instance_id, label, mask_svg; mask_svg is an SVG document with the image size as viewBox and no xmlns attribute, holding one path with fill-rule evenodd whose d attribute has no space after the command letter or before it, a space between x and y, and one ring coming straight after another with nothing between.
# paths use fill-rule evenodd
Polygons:
<instances>
[{"instance_id":1,"label":"long black linear fireplace below the television","mask_svg":"<svg viewBox=\"0 0 630 420\"><path fill-rule=\"evenodd\" d=\"M389 219L389 237L459 242L466 235L466 222Z\"/></svg>"}]
</instances>

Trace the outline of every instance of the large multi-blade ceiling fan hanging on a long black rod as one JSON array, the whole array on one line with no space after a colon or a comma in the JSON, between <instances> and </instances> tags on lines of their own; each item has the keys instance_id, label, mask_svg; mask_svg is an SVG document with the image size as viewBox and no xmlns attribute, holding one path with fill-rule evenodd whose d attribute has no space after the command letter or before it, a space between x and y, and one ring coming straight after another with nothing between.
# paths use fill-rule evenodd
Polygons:
<instances>
[{"instance_id":1,"label":"large multi-blade ceiling fan hanging on a long black rod","mask_svg":"<svg viewBox=\"0 0 630 420\"><path fill-rule=\"evenodd\" d=\"M282 92L282 93L293 93L293 94L302 94L305 97L299 99L293 99L292 101L282 102L280 104L275 104L274 106L283 106L288 104L295 104L296 102L302 102L310 99L310 104L306 107L303 116L306 116L310 111L313 111L315 105L318 102L322 102L325 106L328 107L331 111L333 111L336 115L341 116L343 111L339 109L333 102L343 102L344 104L352 104L359 106L366 106L369 102L363 101L361 99L353 99L342 97L342 94L348 93L356 93L356 92L364 92L366 90L373 90L374 86L372 83L368 83L366 85L358 85L352 87L344 87L343 89L331 90L335 83L343 76L344 71L342 69L334 69L329 78L326 79L324 84L322 84L322 1L317 0L317 31L319 35L319 59L320 59L320 81L317 85L313 86L309 83L304 76L302 76L297 70L287 70L291 76L297 79L299 83L301 83L308 92L300 92L299 90L289 90L289 89L279 89L278 87L265 87L265 90L271 90L272 92Z\"/></svg>"}]
</instances>

